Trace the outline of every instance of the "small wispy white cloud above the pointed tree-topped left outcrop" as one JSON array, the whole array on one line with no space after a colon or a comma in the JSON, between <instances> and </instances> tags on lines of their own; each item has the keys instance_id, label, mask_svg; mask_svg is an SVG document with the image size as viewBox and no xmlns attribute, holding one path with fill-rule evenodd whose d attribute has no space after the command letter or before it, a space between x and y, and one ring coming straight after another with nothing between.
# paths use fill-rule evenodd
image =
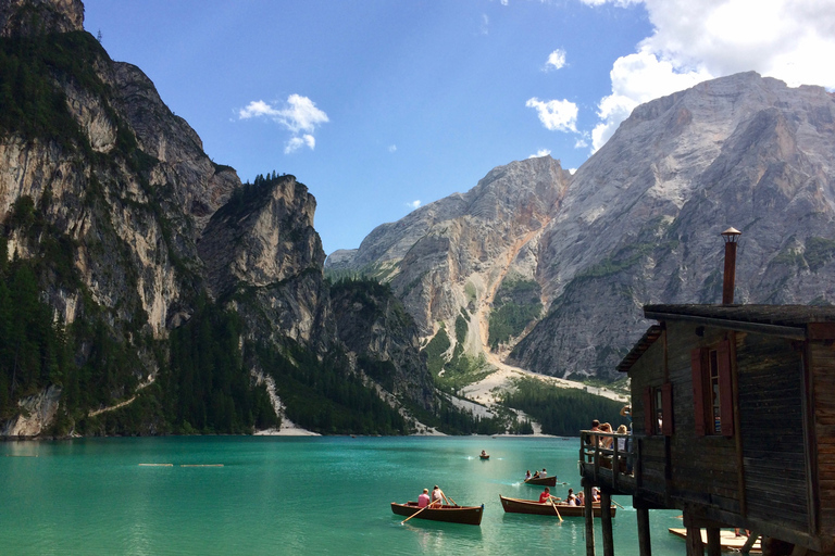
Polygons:
<instances>
[{"instance_id":1,"label":"small wispy white cloud above the pointed tree-topped left outcrop","mask_svg":"<svg viewBox=\"0 0 835 556\"><path fill-rule=\"evenodd\" d=\"M238 118L267 117L292 134L284 152L291 153L301 147L311 150L316 147L313 132L316 127L329 122L327 114L301 94L290 94L283 106L274 106L262 100L252 101L238 111Z\"/></svg>"}]
</instances>

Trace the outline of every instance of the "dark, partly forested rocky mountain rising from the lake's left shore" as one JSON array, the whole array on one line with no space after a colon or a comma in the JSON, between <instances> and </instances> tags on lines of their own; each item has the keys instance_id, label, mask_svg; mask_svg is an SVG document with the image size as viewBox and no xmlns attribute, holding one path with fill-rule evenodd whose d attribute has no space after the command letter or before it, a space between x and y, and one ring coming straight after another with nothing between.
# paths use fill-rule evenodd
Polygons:
<instances>
[{"instance_id":1,"label":"dark, partly forested rocky mountain rising from the lake's left shore","mask_svg":"<svg viewBox=\"0 0 835 556\"><path fill-rule=\"evenodd\" d=\"M432 412L387 290L396 341L339 340L307 188L214 164L83 17L0 0L0 435L246 432L265 383L324 432L406 432L381 390Z\"/></svg>"}]
</instances>

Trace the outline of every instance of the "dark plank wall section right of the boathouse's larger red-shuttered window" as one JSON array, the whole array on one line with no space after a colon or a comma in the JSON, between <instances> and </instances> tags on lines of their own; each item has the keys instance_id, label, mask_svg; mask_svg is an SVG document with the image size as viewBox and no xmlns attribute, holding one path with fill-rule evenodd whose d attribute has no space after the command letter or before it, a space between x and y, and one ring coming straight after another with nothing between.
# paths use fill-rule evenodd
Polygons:
<instances>
[{"instance_id":1,"label":"dark plank wall section right of the boathouse's larger red-shuttered window","mask_svg":"<svg viewBox=\"0 0 835 556\"><path fill-rule=\"evenodd\" d=\"M748 517L808 532L802 358L792 342L737 333Z\"/></svg>"}]
</instances>

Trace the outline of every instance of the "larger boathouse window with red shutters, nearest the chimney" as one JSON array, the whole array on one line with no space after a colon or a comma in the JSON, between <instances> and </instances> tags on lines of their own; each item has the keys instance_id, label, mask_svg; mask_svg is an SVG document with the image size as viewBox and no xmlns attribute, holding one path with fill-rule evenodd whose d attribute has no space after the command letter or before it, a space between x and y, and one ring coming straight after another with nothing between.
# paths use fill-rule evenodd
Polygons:
<instances>
[{"instance_id":1,"label":"larger boathouse window with red shutters, nearest the chimney","mask_svg":"<svg viewBox=\"0 0 835 556\"><path fill-rule=\"evenodd\" d=\"M690 352L696 434L734 435L731 342Z\"/></svg>"}]
</instances>

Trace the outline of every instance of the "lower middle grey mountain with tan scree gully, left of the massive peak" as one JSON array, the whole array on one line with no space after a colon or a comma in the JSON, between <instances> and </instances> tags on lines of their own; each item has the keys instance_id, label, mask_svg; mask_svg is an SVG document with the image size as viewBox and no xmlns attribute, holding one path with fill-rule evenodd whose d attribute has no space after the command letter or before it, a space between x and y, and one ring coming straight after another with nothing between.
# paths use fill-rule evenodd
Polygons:
<instances>
[{"instance_id":1,"label":"lower middle grey mountain with tan scree gully, left of the massive peak","mask_svg":"<svg viewBox=\"0 0 835 556\"><path fill-rule=\"evenodd\" d=\"M464 194L378 226L327 267L390 280L421 332L432 334L461 307L486 307L509 273L533 275L526 245L559 206L568 179L550 156L497 167Z\"/></svg>"}]
</instances>

